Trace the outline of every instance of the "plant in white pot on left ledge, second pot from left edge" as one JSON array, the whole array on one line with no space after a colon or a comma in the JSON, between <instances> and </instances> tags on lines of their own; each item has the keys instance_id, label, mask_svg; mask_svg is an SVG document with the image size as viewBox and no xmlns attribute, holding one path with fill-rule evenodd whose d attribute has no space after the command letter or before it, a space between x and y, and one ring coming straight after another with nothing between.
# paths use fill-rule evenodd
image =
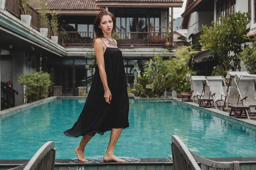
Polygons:
<instances>
[{"instance_id":1,"label":"plant in white pot on left ledge, second pot from left edge","mask_svg":"<svg viewBox=\"0 0 256 170\"><path fill-rule=\"evenodd\" d=\"M19 0L19 7L21 9L22 15L20 15L20 20L25 23L25 26L29 27L31 23L31 9L29 0Z\"/></svg>"}]
</instances>

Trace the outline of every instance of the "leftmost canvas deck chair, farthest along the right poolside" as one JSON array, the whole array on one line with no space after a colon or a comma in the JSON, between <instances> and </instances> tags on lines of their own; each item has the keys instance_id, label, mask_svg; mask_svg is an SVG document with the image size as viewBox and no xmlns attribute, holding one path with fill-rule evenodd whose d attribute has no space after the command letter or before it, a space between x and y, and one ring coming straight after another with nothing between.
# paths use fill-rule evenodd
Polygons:
<instances>
[{"instance_id":1,"label":"leftmost canvas deck chair, farthest along the right poolside","mask_svg":"<svg viewBox=\"0 0 256 170\"><path fill-rule=\"evenodd\" d=\"M205 76L191 76L190 84L193 103L198 102L198 99L203 95L204 82Z\"/></svg>"}]
</instances>

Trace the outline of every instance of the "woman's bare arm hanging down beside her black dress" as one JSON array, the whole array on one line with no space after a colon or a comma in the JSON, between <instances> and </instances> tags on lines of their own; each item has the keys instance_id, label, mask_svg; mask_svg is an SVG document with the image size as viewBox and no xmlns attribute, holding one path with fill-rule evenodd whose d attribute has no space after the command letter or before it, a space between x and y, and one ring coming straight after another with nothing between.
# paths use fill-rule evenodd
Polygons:
<instances>
[{"instance_id":1,"label":"woman's bare arm hanging down beside her black dress","mask_svg":"<svg viewBox=\"0 0 256 170\"><path fill-rule=\"evenodd\" d=\"M103 42L100 38L96 39L94 42L94 51L97 59L97 65L99 67L99 75L101 77L101 82L104 87L104 98L106 99L106 102L110 104L110 101L112 99L111 92L108 88L108 82L107 82L107 75L105 71L105 63L104 63L104 54L103 54L104 46Z\"/></svg>"}]
</instances>

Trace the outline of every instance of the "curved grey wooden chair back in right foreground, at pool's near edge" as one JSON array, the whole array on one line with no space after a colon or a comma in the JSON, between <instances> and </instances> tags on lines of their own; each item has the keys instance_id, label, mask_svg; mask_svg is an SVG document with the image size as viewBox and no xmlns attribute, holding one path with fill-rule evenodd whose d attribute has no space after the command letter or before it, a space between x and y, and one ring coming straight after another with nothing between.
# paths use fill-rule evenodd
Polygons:
<instances>
[{"instance_id":1,"label":"curved grey wooden chair back in right foreground, at pool's near edge","mask_svg":"<svg viewBox=\"0 0 256 170\"><path fill-rule=\"evenodd\" d=\"M171 147L174 170L239 170L238 161L216 162L196 155L189 151L185 144L176 135L172 136ZM198 163L200 166L198 166Z\"/></svg>"}]
</instances>

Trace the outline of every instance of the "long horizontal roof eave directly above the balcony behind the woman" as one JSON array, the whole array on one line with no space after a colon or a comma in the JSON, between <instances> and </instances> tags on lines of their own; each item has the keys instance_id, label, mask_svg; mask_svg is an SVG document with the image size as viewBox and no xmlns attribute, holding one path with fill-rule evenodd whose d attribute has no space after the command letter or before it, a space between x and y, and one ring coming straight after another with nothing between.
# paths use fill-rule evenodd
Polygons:
<instances>
[{"instance_id":1,"label":"long horizontal roof eave directly above the balcony behind the woman","mask_svg":"<svg viewBox=\"0 0 256 170\"><path fill-rule=\"evenodd\" d=\"M97 7L182 7L183 2L174 3L120 3L120 2L97 2Z\"/></svg>"}]
</instances>

